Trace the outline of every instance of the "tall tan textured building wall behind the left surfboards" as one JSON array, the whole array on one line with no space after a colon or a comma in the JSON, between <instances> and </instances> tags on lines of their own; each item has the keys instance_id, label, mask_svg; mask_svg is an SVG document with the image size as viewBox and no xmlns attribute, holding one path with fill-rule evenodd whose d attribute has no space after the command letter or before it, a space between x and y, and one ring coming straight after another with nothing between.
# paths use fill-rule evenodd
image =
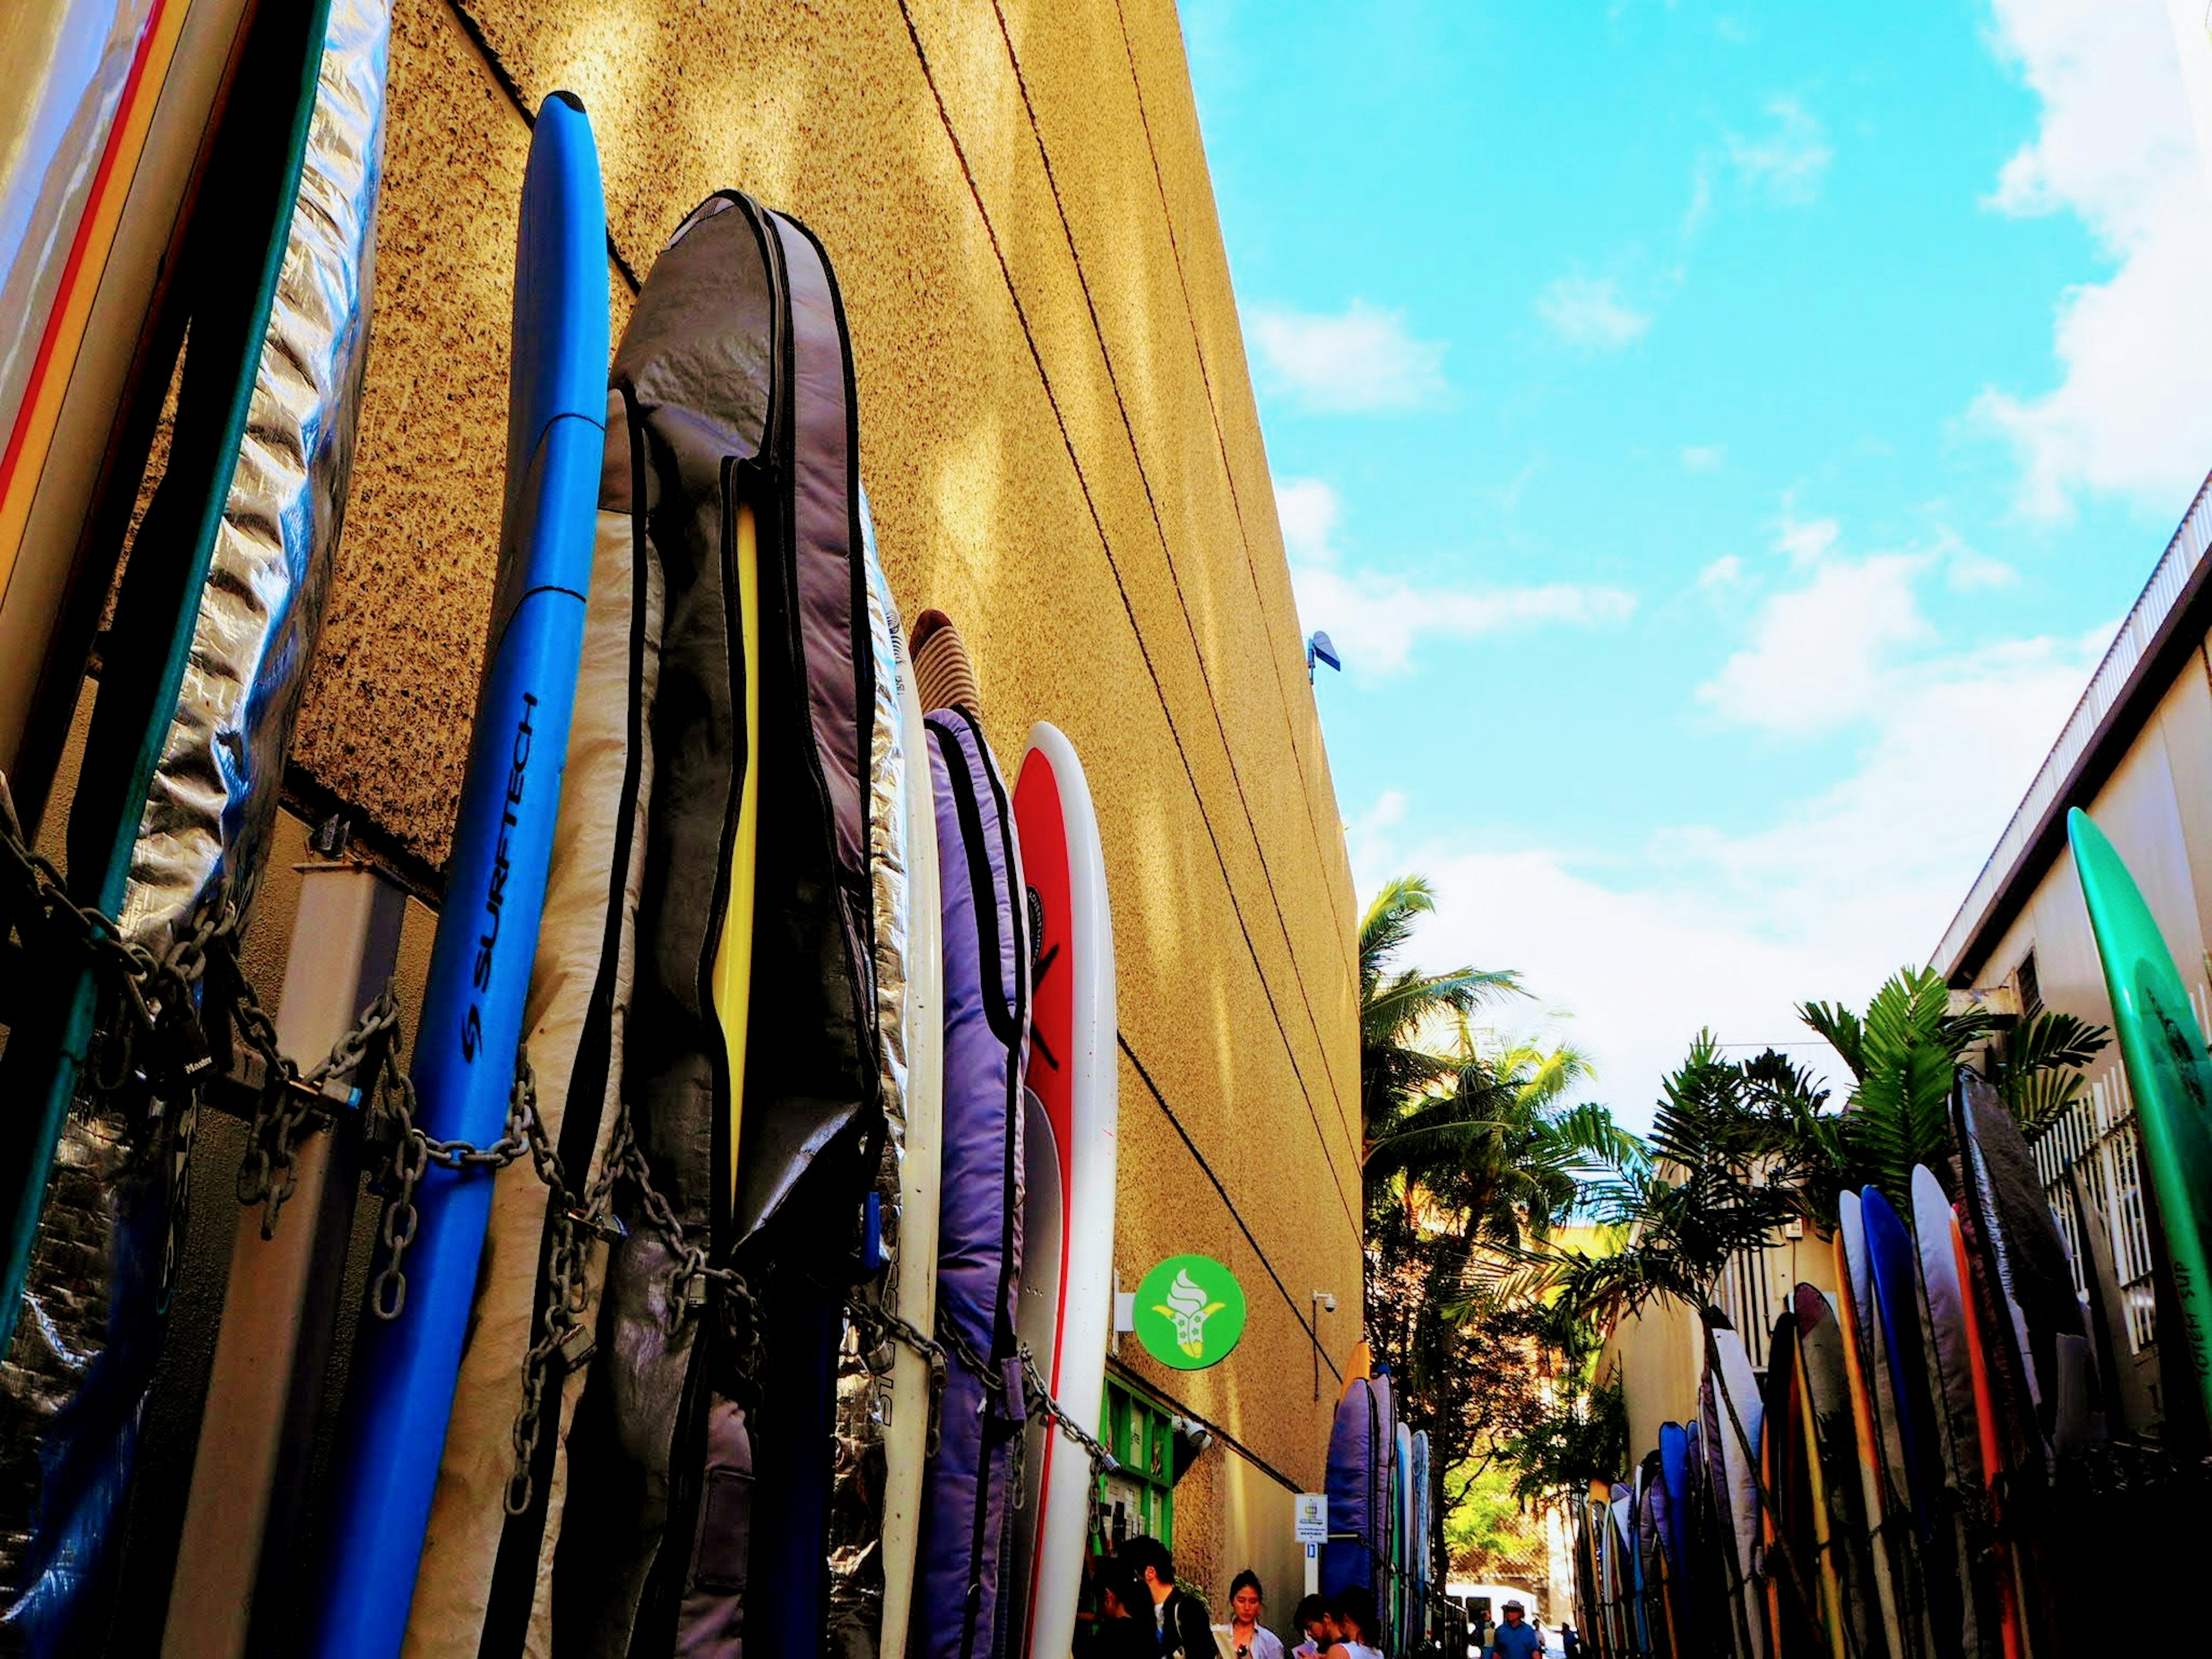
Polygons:
<instances>
[{"instance_id":1,"label":"tall tan textured building wall behind the left surfboards","mask_svg":"<svg viewBox=\"0 0 2212 1659\"><path fill-rule=\"evenodd\" d=\"M1332 1360L1358 1336L1356 907L1170 0L400 0L354 502L296 763L431 865L491 602L522 106L560 86L599 135L617 334L628 274L714 188L827 243L898 602L960 622L1002 759L1051 719L1097 796L1121 1281L1203 1250L1250 1296L1214 1371L1124 1358L1316 1486L1336 1380L1312 1398L1310 1294L1340 1298ZM1203 1464L1183 1486L1214 1597L1274 1555L1252 1517L1287 1524L1230 1491ZM1296 1586L1270 1588L1287 1615Z\"/></svg>"}]
</instances>

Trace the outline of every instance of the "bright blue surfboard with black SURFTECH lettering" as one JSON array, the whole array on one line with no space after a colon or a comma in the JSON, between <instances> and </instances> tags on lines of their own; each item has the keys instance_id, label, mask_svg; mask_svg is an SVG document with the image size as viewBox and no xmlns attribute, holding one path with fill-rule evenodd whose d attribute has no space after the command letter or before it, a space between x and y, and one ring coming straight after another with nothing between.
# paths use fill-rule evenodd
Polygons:
<instances>
[{"instance_id":1,"label":"bright blue surfboard with black SURFTECH lettering","mask_svg":"<svg viewBox=\"0 0 2212 1659\"><path fill-rule=\"evenodd\" d=\"M584 106L553 93L522 179L500 584L414 1046L418 1121L438 1139L489 1146L507 1124L584 650L606 361L599 153ZM316 1655L400 1650L491 1179L491 1170L429 1170L416 1188L405 1305L389 1321L363 1318Z\"/></svg>"}]
</instances>

